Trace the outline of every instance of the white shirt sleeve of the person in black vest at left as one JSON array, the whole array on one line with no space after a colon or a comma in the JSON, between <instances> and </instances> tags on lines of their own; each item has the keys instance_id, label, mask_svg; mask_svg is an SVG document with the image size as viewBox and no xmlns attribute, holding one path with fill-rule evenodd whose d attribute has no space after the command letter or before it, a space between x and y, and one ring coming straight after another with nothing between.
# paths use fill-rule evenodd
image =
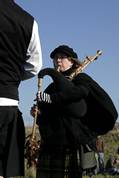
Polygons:
<instances>
[{"instance_id":1,"label":"white shirt sleeve of the person in black vest at left","mask_svg":"<svg viewBox=\"0 0 119 178\"><path fill-rule=\"evenodd\" d=\"M34 20L32 36L27 49L27 60L24 65L25 73L22 80L38 74L42 67L42 51L37 22Z\"/></svg>"}]
</instances>

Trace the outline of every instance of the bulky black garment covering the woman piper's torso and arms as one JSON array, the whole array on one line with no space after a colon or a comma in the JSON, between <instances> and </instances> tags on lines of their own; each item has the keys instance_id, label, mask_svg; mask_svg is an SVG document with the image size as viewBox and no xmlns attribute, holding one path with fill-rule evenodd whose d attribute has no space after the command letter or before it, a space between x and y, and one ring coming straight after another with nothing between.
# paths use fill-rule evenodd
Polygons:
<instances>
[{"instance_id":1,"label":"bulky black garment covering the woman piper's torso and arms","mask_svg":"<svg viewBox=\"0 0 119 178\"><path fill-rule=\"evenodd\" d=\"M81 73L70 81L66 75L71 69L63 75L48 71L54 83L45 92L51 95L53 103L39 103L38 119L46 143L87 144L113 128L117 111L107 93L91 77Z\"/></svg>"}]
</instances>

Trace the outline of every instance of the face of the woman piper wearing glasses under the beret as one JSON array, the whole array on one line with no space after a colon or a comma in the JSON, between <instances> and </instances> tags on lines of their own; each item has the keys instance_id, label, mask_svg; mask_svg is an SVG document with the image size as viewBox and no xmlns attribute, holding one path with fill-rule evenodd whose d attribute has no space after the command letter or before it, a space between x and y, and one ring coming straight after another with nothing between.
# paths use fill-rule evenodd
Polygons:
<instances>
[{"instance_id":1,"label":"face of the woman piper wearing glasses under the beret","mask_svg":"<svg viewBox=\"0 0 119 178\"><path fill-rule=\"evenodd\" d=\"M53 59L54 66L58 68L59 71L64 72L72 67L73 62L69 59L66 54L58 53Z\"/></svg>"}]
</instances>

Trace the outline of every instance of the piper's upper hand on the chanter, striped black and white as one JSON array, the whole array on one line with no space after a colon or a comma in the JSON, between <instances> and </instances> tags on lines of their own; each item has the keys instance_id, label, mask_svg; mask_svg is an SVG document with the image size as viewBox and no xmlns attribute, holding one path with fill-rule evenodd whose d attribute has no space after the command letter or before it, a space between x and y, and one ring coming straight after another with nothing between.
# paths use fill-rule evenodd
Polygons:
<instances>
[{"instance_id":1,"label":"piper's upper hand on the chanter, striped black and white","mask_svg":"<svg viewBox=\"0 0 119 178\"><path fill-rule=\"evenodd\" d=\"M37 93L37 100L45 103L52 103L50 95L44 92Z\"/></svg>"}]
</instances>

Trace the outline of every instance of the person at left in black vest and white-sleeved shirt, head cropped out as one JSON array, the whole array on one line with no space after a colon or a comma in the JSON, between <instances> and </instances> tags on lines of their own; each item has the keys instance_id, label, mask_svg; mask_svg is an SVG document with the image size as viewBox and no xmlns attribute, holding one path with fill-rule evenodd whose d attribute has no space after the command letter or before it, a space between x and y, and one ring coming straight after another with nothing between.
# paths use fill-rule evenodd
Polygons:
<instances>
[{"instance_id":1,"label":"person at left in black vest and white-sleeved shirt, head cropped out","mask_svg":"<svg viewBox=\"0 0 119 178\"><path fill-rule=\"evenodd\" d=\"M24 176L25 128L18 88L41 67L36 21L14 0L0 0L0 178Z\"/></svg>"}]
</instances>

